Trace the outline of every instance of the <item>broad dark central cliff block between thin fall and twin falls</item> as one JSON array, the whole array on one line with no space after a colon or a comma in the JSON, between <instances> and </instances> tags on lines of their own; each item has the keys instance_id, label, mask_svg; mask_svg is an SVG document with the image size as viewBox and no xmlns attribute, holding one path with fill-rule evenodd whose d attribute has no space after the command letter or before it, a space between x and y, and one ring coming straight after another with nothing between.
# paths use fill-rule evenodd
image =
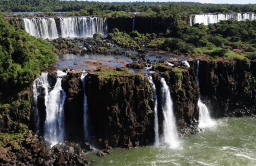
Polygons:
<instances>
[{"instance_id":1,"label":"broad dark central cliff block between thin fall and twin falls","mask_svg":"<svg viewBox=\"0 0 256 166\"><path fill-rule=\"evenodd\" d=\"M89 135L94 145L131 147L154 142L152 90L140 75L86 81Z\"/></svg>"}]
</instances>

